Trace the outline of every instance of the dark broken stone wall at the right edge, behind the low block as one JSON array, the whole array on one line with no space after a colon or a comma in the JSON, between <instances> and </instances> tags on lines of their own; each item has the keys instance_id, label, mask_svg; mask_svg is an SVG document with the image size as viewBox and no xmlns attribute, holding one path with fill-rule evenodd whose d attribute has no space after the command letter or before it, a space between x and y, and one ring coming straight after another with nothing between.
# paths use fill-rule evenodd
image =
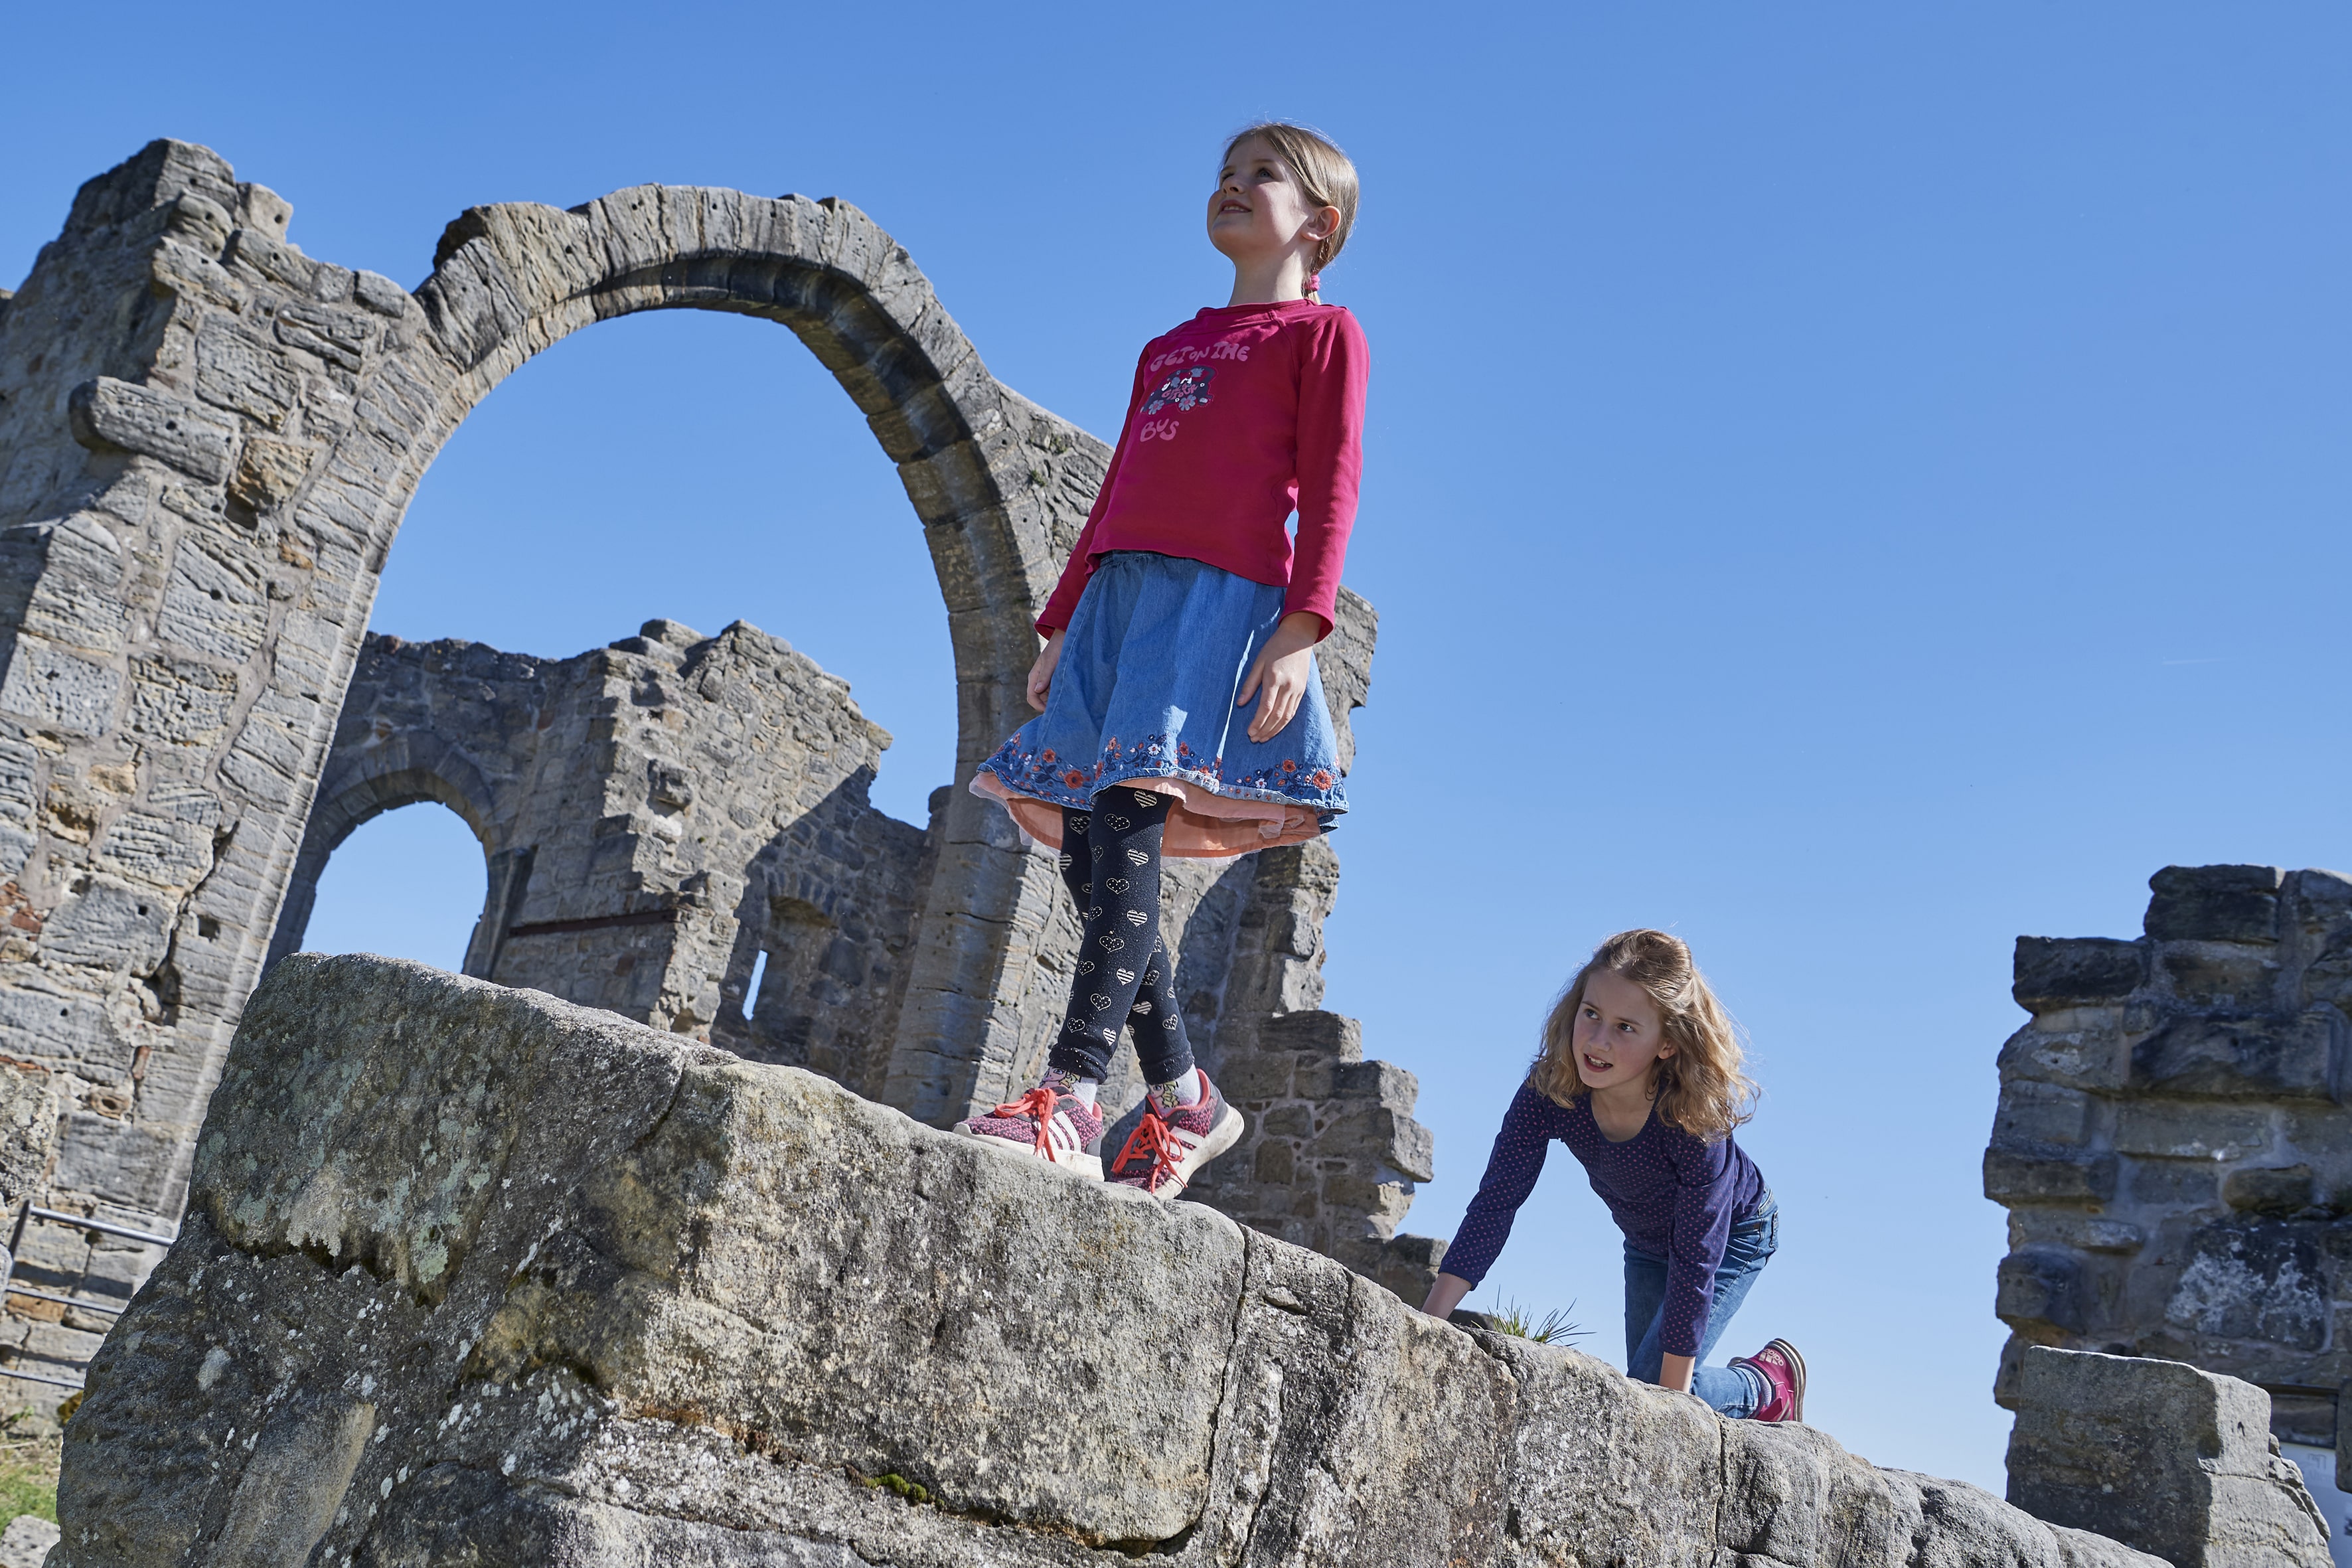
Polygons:
<instances>
[{"instance_id":1,"label":"dark broken stone wall at the right edge, behind the low block","mask_svg":"<svg viewBox=\"0 0 2352 1568\"><path fill-rule=\"evenodd\" d=\"M2020 938L1985 1197L2009 1206L1997 1399L2027 1345L2260 1385L2331 1448L2352 1380L2352 879L2166 867L2136 940ZM2352 1467L2338 1474L2352 1474Z\"/></svg>"}]
</instances>

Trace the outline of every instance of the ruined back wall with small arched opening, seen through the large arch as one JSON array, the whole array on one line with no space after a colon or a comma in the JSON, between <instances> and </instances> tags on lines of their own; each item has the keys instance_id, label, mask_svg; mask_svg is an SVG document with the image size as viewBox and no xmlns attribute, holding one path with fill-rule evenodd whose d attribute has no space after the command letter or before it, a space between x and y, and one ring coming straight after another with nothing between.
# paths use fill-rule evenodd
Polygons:
<instances>
[{"instance_id":1,"label":"ruined back wall with small arched opening, seen through the large arch","mask_svg":"<svg viewBox=\"0 0 2352 1568\"><path fill-rule=\"evenodd\" d=\"M273 957L346 835L435 799L487 858L466 973L870 1088L929 870L924 832L866 799L887 745L842 679L741 623L647 621L560 663L369 635Z\"/></svg>"}]
</instances>

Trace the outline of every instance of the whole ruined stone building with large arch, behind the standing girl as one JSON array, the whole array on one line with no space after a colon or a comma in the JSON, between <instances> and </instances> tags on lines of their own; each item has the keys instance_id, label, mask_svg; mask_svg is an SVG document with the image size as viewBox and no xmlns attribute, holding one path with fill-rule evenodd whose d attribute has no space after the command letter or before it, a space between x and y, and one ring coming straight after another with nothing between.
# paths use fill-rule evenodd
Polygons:
<instances>
[{"instance_id":1,"label":"whole ruined stone building with large arch, behind the standing girl","mask_svg":"<svg viewBox=\"0 0 2352 1568\"><path fill-rule=\"evenodd\" d=\"M1030 1077L1077 940L1051 858L962 790L924 827L868 806L887 736L840 679L748 625L654 621L569 661L365 625L419 477L522 360L635 310L781 322L868 414L931 545L962 778L1025 712L1030 621L1108 449L1000 386L840 200L475 207L414 294L303 256L289 214L158 141L0 296L0 1030L66 1103L47 1201L179 1215L256 976L299 945L334 844L419 799L489 860L468 973L931 1124ZM1343 757L1374 628L1343 592L1319 649ZM1411 1074L1317 1011L1336 879L1327 846L1174 877L1202 1053L1258 1112L1200 1194L1414 1291L1437 1244L1395 1227L1430 1140ZM136 1272L45 1279L120 1302Z\"/></svg>"}]
</instances>

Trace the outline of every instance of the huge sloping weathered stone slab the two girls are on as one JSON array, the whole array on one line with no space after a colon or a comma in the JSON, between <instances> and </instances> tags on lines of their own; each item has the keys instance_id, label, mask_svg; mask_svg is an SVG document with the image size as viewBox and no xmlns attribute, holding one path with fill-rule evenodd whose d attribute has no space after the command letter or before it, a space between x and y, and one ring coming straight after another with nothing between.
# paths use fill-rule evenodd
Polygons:
<instances>
[{"instance_id":1,"label":"huge sloping weathered stone slab the two girls are on","mask_svg":"<svg viewBox=\"0 0 2352 1568\"><path fill-rule=\"evenodd\" d=\"M282 961L52 1568L2154 1559L790 1067Z\"/></svg>"}]
</instances>

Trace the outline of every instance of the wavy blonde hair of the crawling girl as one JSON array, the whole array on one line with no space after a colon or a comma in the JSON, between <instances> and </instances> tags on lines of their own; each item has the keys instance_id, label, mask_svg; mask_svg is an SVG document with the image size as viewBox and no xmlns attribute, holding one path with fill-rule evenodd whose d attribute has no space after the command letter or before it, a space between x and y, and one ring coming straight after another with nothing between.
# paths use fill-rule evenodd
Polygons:
<instances>
[{"instance_id":1,"label":"wavy blonde hair of the crawling girl","mask_svg":"<svg viewBox=\"0 0 2352 1568\"><path fill-rule=\"evenodd\" d=\"M1658 1060L1658 1117L1703 1143L1729 1138L1755 1114L1757 1086L1740 1072L1745 1053L1731 1013L1698 973L1691 947L1665 931L1618 931L1592 950L1543 1020L1543 1048L1526 1081L1555 1105L1592 1093L1576 1077L1576 1011L1585 1004L1585 980L1602 969L1642 987L1658 1006L1665 1044L1675 1046L1675 1056Z\"/></svg>"}]
</instances>

